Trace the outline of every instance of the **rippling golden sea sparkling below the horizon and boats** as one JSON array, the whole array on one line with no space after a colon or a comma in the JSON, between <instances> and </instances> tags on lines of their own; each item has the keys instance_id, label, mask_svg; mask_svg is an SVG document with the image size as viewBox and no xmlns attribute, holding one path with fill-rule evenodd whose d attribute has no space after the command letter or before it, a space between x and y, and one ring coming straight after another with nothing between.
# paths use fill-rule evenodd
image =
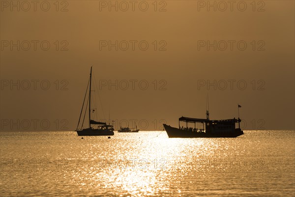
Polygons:
<instances>
[{"instance_id":1,"label":"rippling golden sea sparkling below the horizon and boats","mask_svg":"<svg viewBox=\"0 0 295 197\"><path fill-rule=\"evenodd\" d=\"M294 197L295 131L1 132L0 196Z\"/></svg>"}]
</instances>

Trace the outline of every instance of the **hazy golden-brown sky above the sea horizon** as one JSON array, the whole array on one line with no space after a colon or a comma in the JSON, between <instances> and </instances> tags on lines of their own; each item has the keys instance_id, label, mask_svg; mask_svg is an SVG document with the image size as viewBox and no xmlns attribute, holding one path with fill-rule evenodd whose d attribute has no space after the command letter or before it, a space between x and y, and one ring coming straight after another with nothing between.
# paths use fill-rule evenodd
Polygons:
<instances>
[{"instance_id":1,"label":"hazy golden-brown sky above the sea horizon","mask_svg":"<svg viewBox=\"0 0 295 197\"><path fill-rule=\"evenodd\" d=\"M206 118L208 93L211 119L295 129L292 0L0 3L1 131L75 130L90 66L117 126Z\"/></svg>"}]
</instances>

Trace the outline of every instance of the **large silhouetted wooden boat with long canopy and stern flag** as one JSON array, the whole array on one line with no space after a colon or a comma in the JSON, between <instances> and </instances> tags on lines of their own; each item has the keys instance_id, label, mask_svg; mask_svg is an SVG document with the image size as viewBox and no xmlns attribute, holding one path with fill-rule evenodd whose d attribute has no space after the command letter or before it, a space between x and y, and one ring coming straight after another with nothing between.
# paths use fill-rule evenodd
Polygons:
<instances>
[{"instance_id":1,"label":"large silhouetted wooden boat with long canopy and stern flag","mask_svg":"<svg viewBox=\"0 0 295 197\"><path fill-rule=\"evenodd\" d=\"M238 104L238 108L241 107ZM225 120L210 120L209 111L206 111L207 118L189 118L180 117L178 119L178 128L171 127L170 125L163 124L168 136L172 137L237 137L244 132L240 129L240 118L225 119ZM180 122L185 122L186 127L180 128ZM188 127L188 123L193 123L194 127ZM196 128L196 123L198 125L203 125L200 128ZM236 123L238 128L236 128Z\"/></svg>"}]
</instances>

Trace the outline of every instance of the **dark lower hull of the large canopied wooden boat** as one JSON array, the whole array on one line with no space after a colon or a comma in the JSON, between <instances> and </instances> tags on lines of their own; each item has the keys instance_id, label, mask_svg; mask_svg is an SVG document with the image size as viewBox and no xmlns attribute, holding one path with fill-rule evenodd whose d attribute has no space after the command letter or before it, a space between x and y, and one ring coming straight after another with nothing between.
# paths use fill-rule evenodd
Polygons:
<instances>
[{"instance_id":1,"label":"dark lower hull of the large canopied wooden boat","mask_svg":"<svg viewBox=\"0 0 295 197\"><path fill-rule=\"evenodd\" d=\"M236 129L234 132L224 131L220 133L206 133L206 132L196 132L196 131L186 131L178 128L171 127L169 125L163 124L169 138L190 138L190 137L237 137L244 134L240 129Z\"/></svg>"}]
</instances>

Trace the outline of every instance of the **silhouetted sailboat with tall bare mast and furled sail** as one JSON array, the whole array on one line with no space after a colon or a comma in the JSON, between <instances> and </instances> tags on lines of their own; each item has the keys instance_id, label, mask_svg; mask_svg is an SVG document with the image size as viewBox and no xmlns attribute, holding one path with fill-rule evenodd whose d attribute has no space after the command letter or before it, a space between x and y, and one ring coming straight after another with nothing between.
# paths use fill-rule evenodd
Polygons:
<instances>
[{"instance_id":1,"label":"silhouetted sailboat with tall bare mast and furled sail","mask_svg":"<svg viewBox=\"0 0 295 197\"><path fill-rule=\"evenodd\" d=\"M84 101L83 101L83 105L82 105L82 109L81 109L81 113L80 113L80 117L79 117L79 121L78 121L78 126L76 129L77 134L78 134L78 136L114 135L114 127L112 125L107 125L104 122L98 122L95 120L91 120L91 113L90 113L91 112L91 102L90 102L91 101L91 76L92 76L92 66L90 68L90 78L89 78L89 82L87 85L87 90L85 93L85 97L84 97ZM86 99L86 95L88 92L88 87L89 87L89 94L88 94L89 99L87 99L87 101L86 101L85 99ZM85 102L87 102L86 108L88 106L89 128L83 129L84 120L85 120L87 110L85 110L81 128L79 128L79 125L80 125L80 120L82 117L82 112L83 112L83 107L84 107ZM93 111L94 111L94 109L92 109L92 112Z\"/></svg>"}]
</instances>

